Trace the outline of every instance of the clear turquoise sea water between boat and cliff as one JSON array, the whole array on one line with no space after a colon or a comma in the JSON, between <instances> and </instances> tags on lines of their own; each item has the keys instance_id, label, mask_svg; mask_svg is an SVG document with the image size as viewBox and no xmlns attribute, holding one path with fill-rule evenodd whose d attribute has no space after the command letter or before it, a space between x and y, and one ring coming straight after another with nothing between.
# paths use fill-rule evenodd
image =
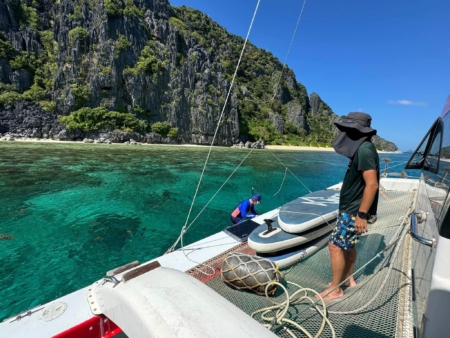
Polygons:
<instances>
[{"instance_id":1,"label":"clear turquoise sea water between boat and cliff","mask_svg":"<svg viewBox=\"0 0 450 338\"><path fill-rule=\"evenodd\" d=\"M1 142L0 234L9 239L0 239L0 320L166 252L186 223L208 150ZM253 150L245 159L249 151L212 149L188 224L217 195L185 244L231 225L252 188L266 212L340 182L348 163L334 152ZM380 154L397 173L409 156Z\"/></svg>"}]
</instances>

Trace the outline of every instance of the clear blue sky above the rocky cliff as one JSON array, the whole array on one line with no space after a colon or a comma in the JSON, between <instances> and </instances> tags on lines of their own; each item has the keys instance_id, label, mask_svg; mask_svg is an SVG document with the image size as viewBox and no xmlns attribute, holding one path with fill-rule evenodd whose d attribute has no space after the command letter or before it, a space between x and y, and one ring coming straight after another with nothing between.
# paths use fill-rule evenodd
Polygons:
<instances>
[{"instance_id":1,"label":"clear blue sky above the rocky cliff","mask_svg":"<svg viewBox=\"0 0 450 338\"><path fill-rule=\"evenodd\" d=\"M169 0L245 37L257 0ZM284 62L303 0L262 0L250 34ZM378 135L413 150L450 94L450 1L307 0L287 60L337 115L372 115Z\"/></svg>"}]
</instances>

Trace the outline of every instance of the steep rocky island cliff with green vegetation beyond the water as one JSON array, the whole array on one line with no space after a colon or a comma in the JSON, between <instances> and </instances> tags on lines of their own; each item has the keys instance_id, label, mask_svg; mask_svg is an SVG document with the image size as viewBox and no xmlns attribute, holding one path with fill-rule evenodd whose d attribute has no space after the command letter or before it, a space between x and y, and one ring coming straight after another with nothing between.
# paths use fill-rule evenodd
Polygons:
<instances>
[{"instance_id":1,"label":"steep rocky island cliff with green vegetation beyond the water","mask_svg":"<svg viewBox=\"0 0 450 338\"><path fill-rule=\"evenodd\" d=\"M139 7L141 6L141 7ZM342 119L272 53L167 0L0 3L0 134L326 147ZM380 137L379 150L397 146Z\"/></svg>"}]
</instances>

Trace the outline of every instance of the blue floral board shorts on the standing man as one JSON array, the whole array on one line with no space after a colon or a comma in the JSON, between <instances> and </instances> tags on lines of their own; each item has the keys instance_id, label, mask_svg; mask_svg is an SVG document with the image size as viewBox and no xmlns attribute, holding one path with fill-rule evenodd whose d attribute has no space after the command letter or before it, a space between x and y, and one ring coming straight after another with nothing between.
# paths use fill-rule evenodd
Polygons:
<instances>
[{"instance_id":1,"label":"blue floral board shorts on the standing man","mask_svg":"<svg viewBox=\"0 0 450 338\"><path fill-rule=\"evenodd\" d=\"M339 214L336 227L331 232L329 242L345 251L351 251L359 241L359 236L361 236L361 233L355 230L355 219L356 216L350 214Z\"/></svg>"}]
</instances>

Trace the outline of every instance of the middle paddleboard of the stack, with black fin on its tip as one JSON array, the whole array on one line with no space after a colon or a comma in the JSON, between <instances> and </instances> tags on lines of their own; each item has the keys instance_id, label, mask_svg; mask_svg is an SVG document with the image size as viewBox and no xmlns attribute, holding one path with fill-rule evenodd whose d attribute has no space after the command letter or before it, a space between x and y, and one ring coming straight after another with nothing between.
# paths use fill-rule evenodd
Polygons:
<instances>
[{"instance_id":1,"label":"middle paddleboard of the stack, with black fin on its tip","mask_svg":"<svg viewBox=\"0 0 450 338\"><path fill-rule=\"evenodd\" d=\"M317 237L329 233L334 228L334 226L334 222L329 222L329 224L322 224L301 234L290 234L283 231L278 226L277 222L273 221L273 231L269 232L268 226L266 224L263 224L252 231L252 233L248 237L247 244L256 252L276 252L310 242Z\"/></svg>"}]
</instances>

